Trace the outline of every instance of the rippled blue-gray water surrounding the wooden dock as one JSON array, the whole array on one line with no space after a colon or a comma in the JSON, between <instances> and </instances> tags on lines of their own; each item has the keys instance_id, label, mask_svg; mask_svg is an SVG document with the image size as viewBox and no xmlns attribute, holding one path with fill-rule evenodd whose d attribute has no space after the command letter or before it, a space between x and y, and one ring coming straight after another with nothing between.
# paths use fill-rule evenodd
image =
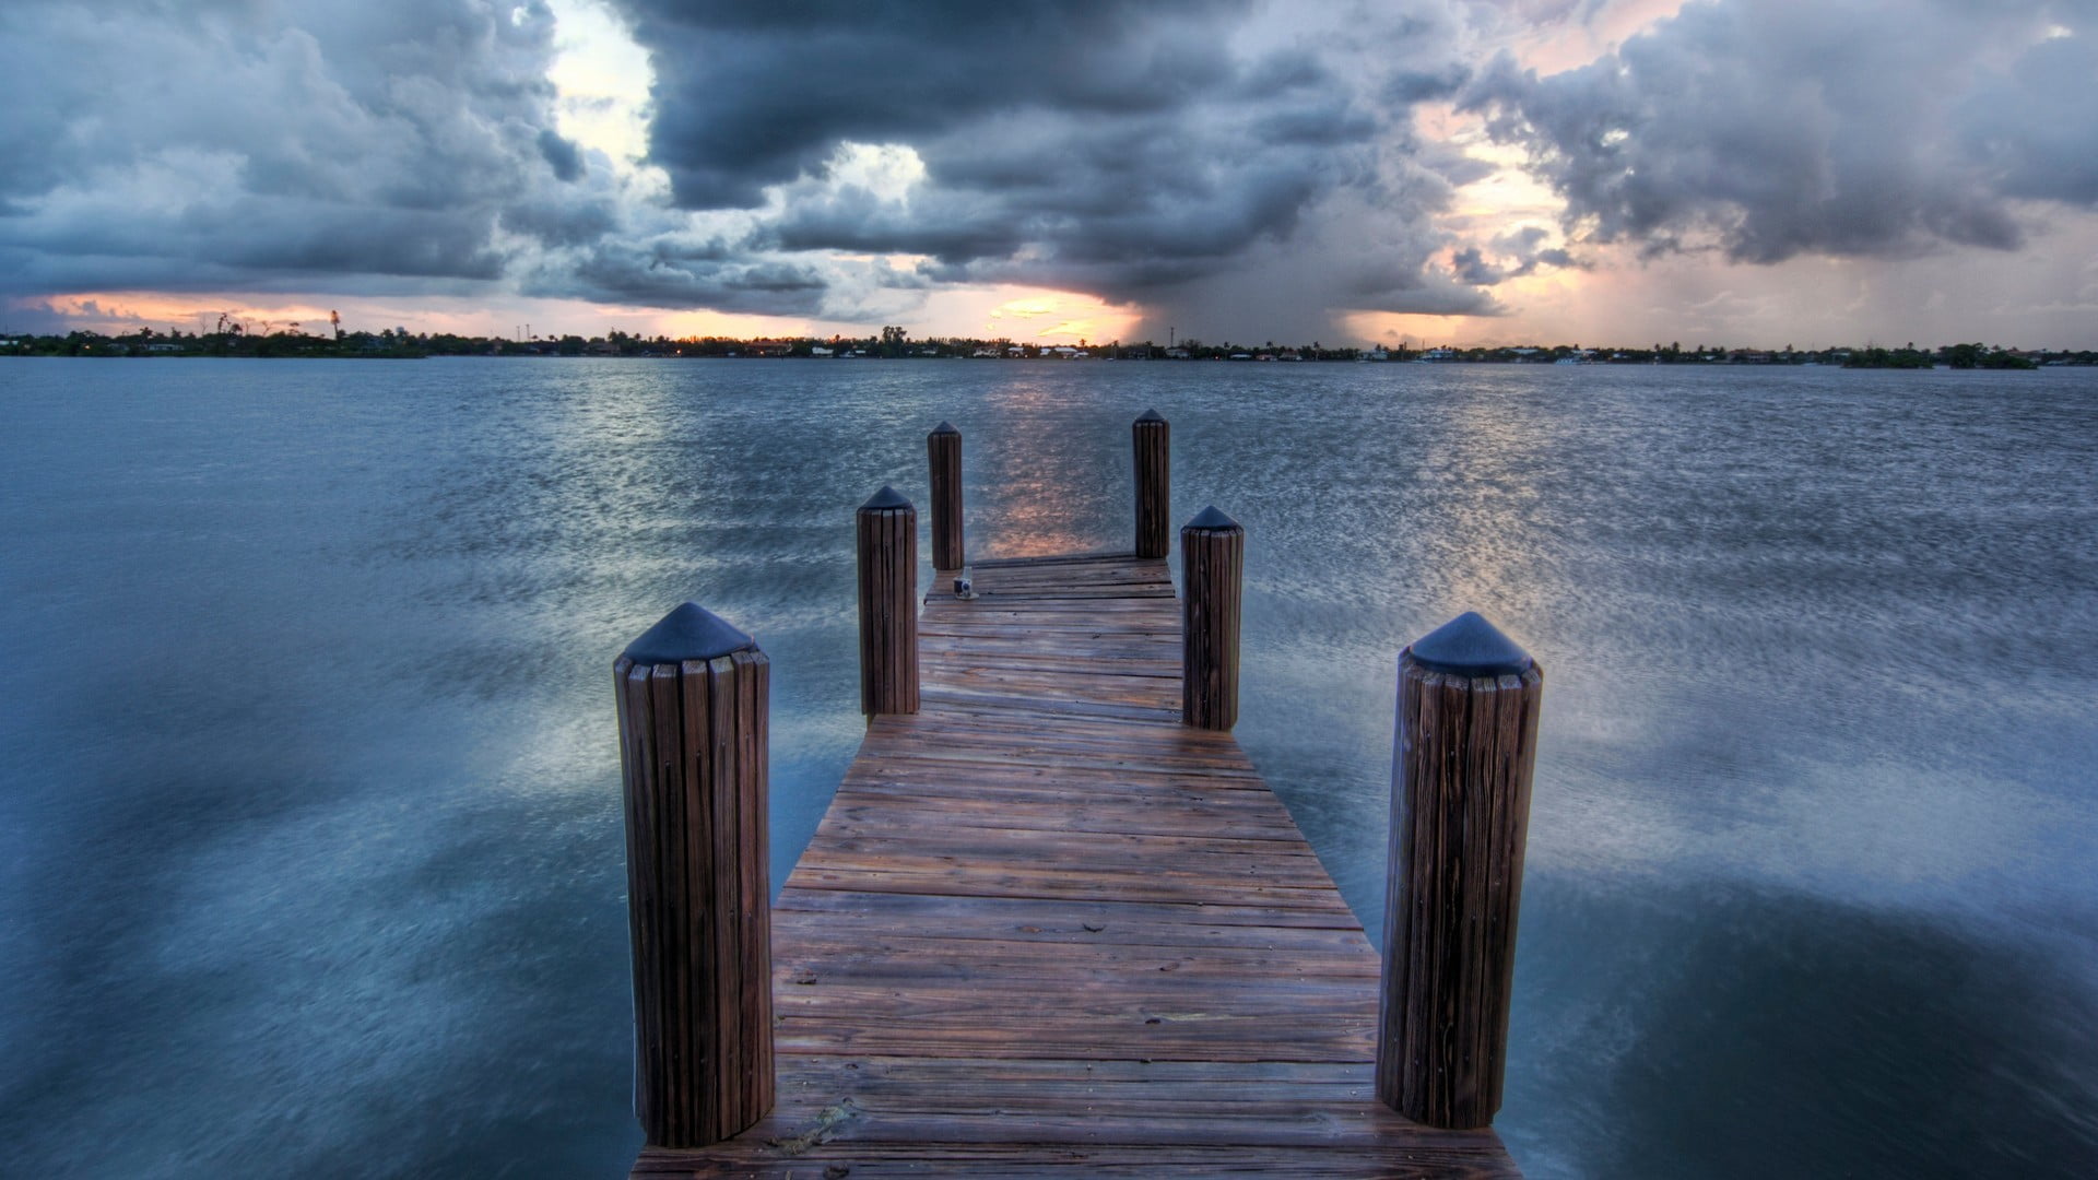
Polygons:
<instances>
[{"instance_id":1,"label":"rippled blue-gray water surrounding the wooden dock","mask_svg":"<svg viewBox=\"0 0 2098 1180\"><path fill-rule=\"evenodd\" d=\"M1240 739L1376 930L1397 649L1546 666L1500 1130L1553 1176L2098 1174L2098 372L0 363L10 1176L621 1176L611 659L852 756L852 508L1248 527Z\"/></svg>"}]
</instances>

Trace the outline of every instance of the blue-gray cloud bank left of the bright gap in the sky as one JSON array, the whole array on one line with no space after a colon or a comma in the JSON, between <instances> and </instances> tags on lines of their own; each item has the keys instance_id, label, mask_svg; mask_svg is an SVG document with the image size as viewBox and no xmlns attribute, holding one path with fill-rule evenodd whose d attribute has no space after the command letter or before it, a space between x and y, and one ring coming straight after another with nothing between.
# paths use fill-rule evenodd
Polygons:
<instances>
[{"instance_id":1,"label":"blue-gray cloud bank left of the bright gap in the sky","mask_svg":"<svg viewBox=\"0 0 2098 1180\"><path fill-rule=\"evenodd\" d=\"M613 225L552 126L543 2L0 8L15 290L487 281Z\"/></svg>"}]
</instances>

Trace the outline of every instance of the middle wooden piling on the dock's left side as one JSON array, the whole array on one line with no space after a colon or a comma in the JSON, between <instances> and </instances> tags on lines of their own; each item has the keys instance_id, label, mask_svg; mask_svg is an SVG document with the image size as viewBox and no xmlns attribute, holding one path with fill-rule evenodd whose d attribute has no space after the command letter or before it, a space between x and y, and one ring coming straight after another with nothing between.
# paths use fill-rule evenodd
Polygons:
<instances>
[{"instance_id":1,"label":"middle wooden piling on the dock's left side","mask_svg":"<svg viewBox=\"0 0 2098 1180\"><path fill-rule=\"evenodd\" d=\"M915 714L917 508L883 485L858 512L860 712Z\"/></svg>"}]
</instances>

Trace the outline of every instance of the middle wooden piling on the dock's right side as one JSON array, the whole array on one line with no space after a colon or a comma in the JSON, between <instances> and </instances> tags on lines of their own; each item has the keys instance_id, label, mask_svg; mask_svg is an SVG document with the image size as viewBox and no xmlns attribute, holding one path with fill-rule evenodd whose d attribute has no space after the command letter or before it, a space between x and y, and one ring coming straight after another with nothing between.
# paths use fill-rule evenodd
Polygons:
<instances>
[{"instance_id":1,"label":"middle wooden piling on the dock's right side","mask_svg":"<svg viewBox=\"0 0 2098 1180\"><path fill-rule=\"evenodd\" d=\"M1181 720L1198 729L1238 724L1238 600L1244 565L1246 529L1215 504L1181 527Z\"/></svg>"}]
</instances>

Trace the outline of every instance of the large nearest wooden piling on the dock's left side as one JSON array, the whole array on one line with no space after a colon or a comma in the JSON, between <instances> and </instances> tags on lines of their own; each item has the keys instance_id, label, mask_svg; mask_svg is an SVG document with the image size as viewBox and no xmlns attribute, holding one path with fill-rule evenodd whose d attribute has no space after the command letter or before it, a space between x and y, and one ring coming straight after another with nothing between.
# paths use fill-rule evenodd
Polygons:
<instances>
[{"instance_id":1,"label":"large nearest wooden piling on the dock's left side","mask_svg":"<svg viewBox=\"0 0 2098 1180\"><path fill-rule=\"evenodd\" d=\"M634 1113L657 1146L772 1109L770 663L694 603L613 663L634 941Z\"/></svg>"}]
</instances>

